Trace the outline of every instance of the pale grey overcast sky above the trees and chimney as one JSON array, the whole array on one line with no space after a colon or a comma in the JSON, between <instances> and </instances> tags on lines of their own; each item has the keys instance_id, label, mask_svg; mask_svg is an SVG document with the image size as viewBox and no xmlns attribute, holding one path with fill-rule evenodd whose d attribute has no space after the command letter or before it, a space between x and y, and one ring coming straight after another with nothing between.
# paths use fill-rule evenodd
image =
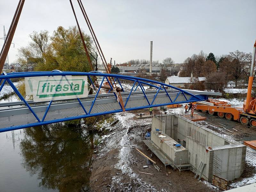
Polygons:
<instances>
[{"instance_id":1,"label":"pale grey overcast sky above the trees and chimney","mask_svg":"<svg viewBox=\"0 0 256 192\"><path fill-rule=\"evenodd\" d=\"M6 33L19 0L0 0L0 37ZM171 57L183 62L203 50L215 56L239 50L252 52L256 39L255 0L82 0L107 60L117 63ZM80 27L89 33L83 15L73 0ZM16 60L33 31L68 28L76 21L69 0L26 0L9 51ZM0 48L4 41L0 40Z\"/></svg>"}]
</instances>

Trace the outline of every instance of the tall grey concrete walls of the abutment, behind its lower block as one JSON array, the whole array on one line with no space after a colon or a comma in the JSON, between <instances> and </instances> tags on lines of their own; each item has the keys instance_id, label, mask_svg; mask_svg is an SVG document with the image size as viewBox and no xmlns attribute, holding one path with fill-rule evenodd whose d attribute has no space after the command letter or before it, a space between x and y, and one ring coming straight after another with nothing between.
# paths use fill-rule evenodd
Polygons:
<instances>
[{"instance_id":1,"label":"tall grey concrete walls of the abutment, behind its lower block","mask_svg":"<svg viewBox=\"0 0 256 192\"><path fill-rule=\"evenodd\" d=\"M227 180L234 180L243 173L246 154L245 145L234 144L214 134L210 130L199 127L193 122L188 122L175 115L161 116L161 119L153 117L152 131L155 130L155 127L161 127L162 131L176 142L178 142L178 139L181 140L180 144L182 146L186 143L186 148L188 149L187 162L196 168L193 172L198 170L201 162L206 164L202 174L205 180L211 182L212 174L216 174ZM201 136L200 141L203 140L203 142L195 139L193 134L189 135L188 128L199 133ZM168 153L168 149L165 149L160 141L158 145L160 146L159 148ZM171 153L168 153L168 156L172 159L174 158ZM182 158L185 158L185 156L182 156ZM220 170L216 170L216 166L219 166Z\"/></svg>"}]
</instances>

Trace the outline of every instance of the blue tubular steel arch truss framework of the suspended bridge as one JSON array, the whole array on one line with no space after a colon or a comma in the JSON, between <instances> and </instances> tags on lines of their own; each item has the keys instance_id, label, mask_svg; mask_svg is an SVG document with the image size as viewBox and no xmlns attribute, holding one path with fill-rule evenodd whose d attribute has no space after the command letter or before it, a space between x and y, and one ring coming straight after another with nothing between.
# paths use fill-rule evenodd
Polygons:
<instances>
[{"instance_id":1,"label":"blue tubular steel arch truss framework of the suspended bridge","mask_svg":"<svg viewBox=\"0 0 256 192\"><path fill-rule=\"evenodd\" d=\"M92 100L92 104L89 108L89 110L84 107L84 105L82 104L81 100L79 98L77 98L79 104L81 105L81 107L84 110L84 114L83 115L78 115L78 116L69 116L69 117L65 117L65 118L59 118L59 119L53 119L53 120L45 120L45 117L47 116L47 113L49 112L49 109L51 108L52 102L53 101L49 101L48 102L48 106L44 112L44 116L40 119L39 116L36 114L36 112L34 111L33 107L30 106L30 103L24 99L24 97L21 95L21 93L19 92L19 90L17 89L17 87L13 84L12 82L12 78L24 78L24 77L38 77L38 76L87 76L89 79L89 82L93 85L93 87L95 88L95 90L97 91L94 99ZM100 82L100 86L98 88L96 88L96 86L93 84L92 81L92 76L97 76L97 77L101 77L102 80ZM133 82L132 88L127 91L127 95L128 97L126 97L125 103L124 103L124 109L125 111L130 111L130 110L136 110L136 109L142 109L142 108L149 108L149 107L158 107L158 106L164 106L164 105L171 105L171 104L180 104L180 103L187 103L187 102L195 102L195 101L202 101L202 100L207 100L208 97L205 94L198 94L198 95L194 95L191 92L188 92L186 90L182 90L180 88L174 87L172 85L168 85L168 84L164 84L161 82L157 82L154 80L149 80L149 79L144 79L144 78L140 78L140 77L132 77L132 76L124 76L124 75L116 75L116 74L104 74L98 71L92 71L92 72L62 72L59 70L53 70L53 71L39 71L39 72L15 72L15 73L3 73L0 76L0 92L3 89L3 86L6 82L8 82L8 84L12 87L12 89L14 90L14 92L17 94L17 96L20 98L21 101L24 102L25 106L29 109L29 111L34 115L34 117L36 118L36 122L34 123L28 123L28 124L20 124L17 126L9 126L9 127L2 127L0 128L0 132L5 132L5 131L10 131L10 130L17 130L17 129L22 129L22 128L27 128L27 127L33 127L33 126L39 126L39 125L45 125L45 124L52 124L52 123L58 123L58 122L63 122L63 121L69 121L69 120L75 120L75 119L80 119L80 118L86 118L86 117L91 117L91 116L98 116L98 115L105 115L105 114L110 114L110 113L117 113L117 112L122 112L124 111L122 108L122 105L119 101L119 105L120 105L120 109L115 109L115 110L106 110L106 111L102 111L102 112L92 112L92 109L94 107L95 101L98 99L99 97L99 93L101 90L101 86L103 84L104 81L107 81L108 84L110 85L110 90L108 91L109 95L113 94L115 95L116 99L117 99L117 95L115 92L110 92L111 90L113 91L113 87L111 85L111 83L109 82L108 77L111 77L114 79L114 82L123 89L122 86L122 80L126 80L126 81L131 81ZM3 82L2 82L3 81ZM147 92L144 88L144 86L151 86L153 88L155 88L155 95L154 98L150 101L148 99L147 96ZM137 106L137 107L129 107L127 106L127 103L129 102L129 99L131 97L131 95L133 93L135 93L138 88L140 88L141 92L144 95L144 99L146 100L146 105L143 106ZM167 89L173 89L176 94L176 96L172 99L170 96L170 93L168 92ZM124 92L124 89L123 89ZM165 93L166 97L168 98L168 102L164 102L164 103L155 103L155 100L159 94L159 92L161 93ZM129 94L128 94L129 93ZM151 93L152 94L152 93ZM183 100L177 100L179 96L183 95ZM118 101L116 101L118 102ZM1 112L0 110L0 113Z\"/></svg>"}]
</instances>

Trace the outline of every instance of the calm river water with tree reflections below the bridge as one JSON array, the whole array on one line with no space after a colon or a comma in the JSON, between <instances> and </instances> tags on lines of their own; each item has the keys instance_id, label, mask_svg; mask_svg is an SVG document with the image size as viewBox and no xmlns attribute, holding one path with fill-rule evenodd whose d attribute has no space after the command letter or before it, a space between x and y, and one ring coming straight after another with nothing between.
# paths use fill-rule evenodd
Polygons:
<instances>
[{"instance_id":1,"label":"calm river water with tree reflections below the bridge","mask_svg":"<svg viewBox=\"0 0 256 192\"><path fill-rule=\"evenodd\" d=\"M92 152L93 135L80 125L0 133L0 192L89 191Z\"/></svg>"}]
</instances>

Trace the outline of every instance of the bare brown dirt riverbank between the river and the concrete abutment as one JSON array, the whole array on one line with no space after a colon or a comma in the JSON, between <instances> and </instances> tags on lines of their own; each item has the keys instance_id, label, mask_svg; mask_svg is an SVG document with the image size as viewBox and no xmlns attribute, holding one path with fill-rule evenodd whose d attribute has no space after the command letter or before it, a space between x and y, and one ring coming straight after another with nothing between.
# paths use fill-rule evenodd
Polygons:
<instances>
[{"instance_id":1,"label":"bare brown dirt riverbank between the river and the concrete abutment","mask_svg":"<svg viewBox=\"0 0 256 192\"><path fill-rule=\"evenodd\" d=\"M128 112L126 112L128 113ZM129 113L148 114L148 110L132 111ZM172 191L172 192L210 192L216 191L214 187L209 187L204 181L194 179L194 173L191 171L173 171L171 166L167 166L164 170L164 164L153 154L145 144L142 144L142 132L148 125L141 124L134 116L131 119L135 122L134 126L130 126L125 138L128 138L126 145L131 146L128 154L128 161L123 166L129 166L131 171L129 173L123 172L121 169L115 168L120 158L120 151L122 156L122 148L116 146L111 149L104 157L99 157L95 154L95 161L93 163L91 180L92 191ZM138 122L137 122L138 121ZM143 121L150 121L151 119L144 119ZM118 136L113 139L118 139ZM100 148L104 148L101 145ZM143 168L146 164L147 158L142 156L135 148L139 148L145 155L156 161L161 171L158 172L153 165L148 165L148 168ZM152 173L154 175L143 174L139 172ZM118 180L118 181L116 181Z\"/></svg>"}]
</instances>

